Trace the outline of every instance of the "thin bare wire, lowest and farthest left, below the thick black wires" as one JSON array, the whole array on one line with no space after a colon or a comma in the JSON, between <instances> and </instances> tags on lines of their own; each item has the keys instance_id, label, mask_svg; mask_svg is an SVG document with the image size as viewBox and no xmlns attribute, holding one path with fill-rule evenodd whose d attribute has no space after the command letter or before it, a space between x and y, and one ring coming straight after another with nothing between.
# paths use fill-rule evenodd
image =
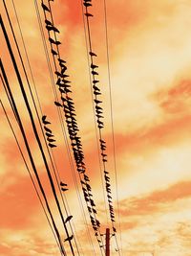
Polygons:
<instances>
[{"instance_id":1,"label":"thin bare wire, lowest and farthest left, below the thick black wires","mask_svg":"<svg viewBox=\"0 0 191 256\"><path fill-rule=\"evenodd\" d=\"M2 76L1 76L1 81L4 82ZM9 95L7 95L7 96L9 96ZM9 97L10 97L10 96L9 96ZM5 109L5 106L3 105L3 103L2 103L1 100L0 100L0 104L2 105L3 111L4 111L4 113L5 113L6 119L7 119L8 123L9 123L10 128L11 128L11 132L12 132L13 137L14 137L14 139L15 139L16 145L17 145L18 150L20 151L20 154L21 154L22 159L23 159L23 161L24 161L25 167L26 167L26 169L27 169L27 171L28 171L28 173L29 173L29 175L30 175L30 177L31 177L32 185L33 185L33 188L34 188L35 193L36 193L36 195L37 195L37 198L38 198L39 201L40 201L40 204L41 204L41 206L42 206L42 208L43 208L44 214L45 214L45 216L46 216L46 218L47 218L47 221L48 221L48 223L49 223L49 225L50 225L50 227L51 227L51 230L52 230L52 232L53 232L53 237L54 237L54 239L55 239L55 242L56 242L56 244L58 245L59 250L60 250L60 253L61 253L61 255L62 255L62 250L61 250L60 245L59 245L59 243L58 243L58 241L57 241L57 238L56 238L56 236L55 236L55 233L54 233L54 231L53 231L53 226L52 226L52 224L51 224L51 221L49 220L49 217L48 217L48 214L47 214L47 212L46 212L45 206L44 206L44 204L43 204L43 202L42 202L42 199L40 198L40 195L39 195L38 190L37 190L37 188L36 188L35 182L34 182L34 180L33 180L33 178L32 178L32 174L31 174L30 168L29 168L29 166L28 166L28 164L27 164L27 161L26 161L26 159L25 159L24 153L23 153L23 151L22 151L22 149L21 149L21 146L20 146L20 144L19 144L19 141L18 141L18 139L17 139L16 133L14 132L14 129L13 129L12 125L11 125L11 120L10 120L10 118L9 118L9 116L8 116L8 113L7 113L6 109Z\"/></svg>"}]
</instances>

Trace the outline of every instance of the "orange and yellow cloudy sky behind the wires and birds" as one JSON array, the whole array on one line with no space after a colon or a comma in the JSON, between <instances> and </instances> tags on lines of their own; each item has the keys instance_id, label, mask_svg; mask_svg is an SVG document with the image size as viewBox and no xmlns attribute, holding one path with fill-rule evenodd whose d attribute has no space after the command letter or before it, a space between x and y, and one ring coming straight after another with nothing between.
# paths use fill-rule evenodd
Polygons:
<instances>
[{"instance_id":1,"label":"orange and yellow cloudy sky behind the wires and birds","mask_svg":"<svg viewBox=\"0 0 191 256\"><path fill-rule=\"evenodd\" d=\"M40 1L37 2L44 26ZM111 78L109 83L104 1L92 2L94 17L91 19L91 35L93 49L97 54L96 64L98 64L105 123L103 136L108 147L107 166L111 176L117 219L117 241L121 255L190 256L191 3L188 0L106 0ZM12 1L6 3L32 82ZM95 251L87 236L87 226L90 226L90 221L87 218L88 223L86 223L83 218L75 183L79 185L78 175L71 167L59 125L57 108L53 104L53 80L49 74L34 1L14 0L14 4L42 113L47 115L52 123L51 128L57 145L53 149L53 155L61 180L68 184L69 191L65 196L68 210L74 216L73 225L76 229L76 239L80 244L80 255L100 255L94 235L92 239ZM81 2L54 0L51 5L54 24L60 31L58 36L62 42L61 55L67 60L68 73L72 81L72 95L87 172L91 179L98 218L104 232L109 224L105 214L101 183ZM21 69L3 2L0 3L0 11ZM44 33L50 52L45 29ZM53 207L55 219L59 223L47 174L34 140L29 116L12 69L2 31L0 34L1 58L39 175ZM51 55L50 59L53 67ZM32 105L23 71L21 75ZM53 79L55 81L55 77ZM37 103L34 92L32 83L32 93ZM2 82L0 99L5 105L12 127L32 170ZM40 111L39 105L37 108ZM35 114L34 118L37 120ZM0 126L0 255L59 255L53 233L36 197L32 180L2 107L0 107ZM40 133L39 127L37 128ZM115 138L115 154L112 131ZM82 198L80 190L79 194ZM82 204L85 205L84 198ZM111 255L117 255L113 238L111 238Z\"/></svg>"}]
</instances>

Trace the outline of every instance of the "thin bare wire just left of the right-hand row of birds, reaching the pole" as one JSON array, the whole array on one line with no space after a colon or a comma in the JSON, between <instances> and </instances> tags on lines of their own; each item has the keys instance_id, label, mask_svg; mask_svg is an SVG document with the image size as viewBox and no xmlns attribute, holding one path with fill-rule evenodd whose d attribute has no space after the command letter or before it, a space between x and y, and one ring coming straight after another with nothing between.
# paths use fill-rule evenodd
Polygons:
<instances>
[{"instance_id":1,"label":"thin bare wire just left of the right-hand row of birds, reaching the pole","mask_svg":"<svg viewBox=\"0 0 191 256\"><path fill-rule=\"evenodd\" d=\"M88 57L88 42L87 42L87 35L86 35L86 27L85 27L85 20L84 20L84 14L83 14L83 2L81 0L81 10L82 10L82 18L83 18L83 29L84 29L84 37L85 37L85 43L86 43L86 55L87 55L87 60L88 60L88 66L90 66L90 59ZM93 88L92 88L92 81L91 81L91 72L89 69L89 81L90 81L90 87L91 87L91 97L92 97L92 106L93 106L93 113L94 113L94 122L95 122L95 132L96 132L96 148L97 148L97 154L98 154L98 163L99 163L99 173L101 176L101 186L102 186L102 192L103 192L103 198L104 198L104 205L105 205L105 214L106 214L106 219L107 219L107 224L108 224L108 216L107 216L107 206L106 206L106 197L104 193L104 186L103 186L103 175L101 171L101 162L100 162L100 150L99 150L99 145L98 145L98 134L96 130L96 113L95 113L95 105L94 105L94 99L93 99Z\"/></svg>"}]
</instances>

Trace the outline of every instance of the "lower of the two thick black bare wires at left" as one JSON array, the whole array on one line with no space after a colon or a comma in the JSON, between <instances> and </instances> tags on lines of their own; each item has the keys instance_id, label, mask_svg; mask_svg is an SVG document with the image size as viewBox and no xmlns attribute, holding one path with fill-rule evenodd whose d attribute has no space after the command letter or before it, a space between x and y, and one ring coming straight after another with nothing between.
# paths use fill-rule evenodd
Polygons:
<instances>
[{"instance_id":1,"label":"lower of the two thick black bare wires at left","mask_svg":"<svg viewBox=\"0 0 191 256\"><path fill-rule=\"evenodd\" d=\"M5 27L4 27L4 24L3 24L3 20L2 20L1 15L0 15L0 24L1 24L1 26L2 26L3 32L5 33L5 37L7 37L7 33L6 33L6 31L5 31ZM7 38L7 39L8 39L8 38ZM9 43L8 43L8 44L9 44ZM49 212L49 214L50 214L50 217L51 217L51 220L52 220L52 222L53 222L53 228L54 228L54 230L55 230L55 233L56 233L58 242L59 242L59 244L60 244L60 249L61 249L62 253L63 253L64 255L66 255L65 249L64 249L63 244L62 244L62 242L61 242L61 237L60 237L59 231L58 231L58 229L57 229L57 227L56 227L55 221L53 220L53 214L52 214L51 208L50 208L50 206L49 206L48 199L47 199L47 197L46 197L45 191L44 191L44 189L43 189L42 183L41 183L41 181L40 181L39 175L38 175L38 173L37 173L37 169L36 169L35 164L34 164L34 161L33 161L32 152L31 152L31 149L30 149L30 146L29 146L29 143L28 143L26 134L25 134L25 130L24 130L23 125L22 125L22 121L21 121L20 116L19 116L19 112L18 112L18 110L17 110L17 107L16 107L16 105L15 105L15 102L14 102L14 99L13 99L13 96L12 96L12 93L11 93L11 87L10 87L10 84L9 84L9 81L8 81L8 78L7 78L7 75L6 75L6 72L5 72L5 69L4 69L4 66L3 66L3 63L2 63L1 58L0 58L0 69L1 69L1 72L2 72L2 75L3 75L3 79L4 79L4 81L5 81L5 84L6 84L6 86L7 86L8 92L9 92L9 95L10 95L10 98L11 98L11 102L12 102L12 105L13 105L13 108L14 108L14 110L15 110L15 115L16 115L16 117L17 117L17 122L18 122L19 128L20 128L20 130L21 130L21 133L22 133L22 136L23 136L23 139L24 139L24 142L25 142L26 149L27 149L27 151L28 151L28 154L29 154L29 157L30 157L30 160L31 160L31 163L32 163L32 170L33 170L34 175L35 175L35 177L36 177L36 179L37 179L37 183L38 183L39 189L40 189L40 191L41 191L41 193L42 193L42 196L43 196L43 198L44 198L44 200L45 200L45 204L46 204L47 210L48 210L48 212Z\"/></svg>"}]
</instances>

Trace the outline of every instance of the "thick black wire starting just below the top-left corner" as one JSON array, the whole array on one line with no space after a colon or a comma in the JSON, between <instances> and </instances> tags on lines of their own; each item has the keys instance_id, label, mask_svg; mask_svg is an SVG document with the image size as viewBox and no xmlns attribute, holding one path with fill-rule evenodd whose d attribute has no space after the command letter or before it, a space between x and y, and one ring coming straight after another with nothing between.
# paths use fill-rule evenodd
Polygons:
<instances>
[{"instance_id":1,"label":"thick black wire starting just below the top-left corner","mask_svg":"<svg viewBox=\"0 0 191 256\"><path fill-rule=\"evenodd\" d=\"M56 202L56 205L57 205L57 209L58 209L60 218L61 218L61 220L62 220L62 223L63 223L64 229L65 229L65 232L66 232L66 234L67 234L67 237L69 237L69 233L68 233L68 230L67 230L67 227L66 227L66 223L65 223L65 221L64 221L64 217L63 217L63 215L62 215L62 211L61 211L61 208L60 208L60 203L59 203L59 200L58 200L58 198L57 198L56 191L55 191L55 188L54 188L53 177L52 177L52 175L51 175L51 172L50 172L50 169L49 169L49 165L48 165L48 162L47 162L45 153L44 153L44 151L43 151L43 147L42 147L42 144L41 144L41 141L40 141L40 138L39 138L37 129L36 129L36 127L35 127L34 119L33 119L33 116L32 116L32 109L31 109L31 106L29 105L29 101L28 101L28 98L27 98L27 95L26 95L26 92L25 92L25 89L24 89L24 86L23 86L23 81L22 81L22 79L21 79L21 76L20 76L20 73L19 73L19 70L18 70L18 66L17 66L16 61L15 61L15 58L14 58L14 56L13 56L13 53L12 53L12 50L11 50L10 40L9 40L9 37L8 37L7 32L6 32L6 30L5 30L5 26L4 26L4 24L3 24L2 18L1 18L1 25L2 25L2 30L3 30L3 33L4 33L4 35L5 35L5 39L6 39L6 42L7 42L7 46L8 46L10 55L11 55L11 60L12 60L12 64L13 64L13 67L14 67L14 70L15 70L15 73L16 73L16 76L17 76L17 80L18 80L18 82L19 82L20 89L21 89L21 92L22 92L22 95L23 95L23 99L24 99L24 102L25 102L25 104L26 104L26 107L27 107L29 116L30 116L30 120L31 120L31 124L32 124L32 130L33 130L33 133L34 133L36 142L37 142L37 144L38 144L39 150L40 150L40 152L41 152L42 159L43 159L43 161L44 161L45 168L46 168L46 171L47 171L47 175L48 175L49 180L50 180L50 185L51 185L51 188L52 188L52 191L53 191L53 197L54 197L54 199L55 199L55 202ZM68 242L69 242L69 244L70 244L71 251L72 251L72 253L73 253L73 255L74 255L73 244L71 243L71 240L68 240Z\"/></svg>"}]
</instances>

